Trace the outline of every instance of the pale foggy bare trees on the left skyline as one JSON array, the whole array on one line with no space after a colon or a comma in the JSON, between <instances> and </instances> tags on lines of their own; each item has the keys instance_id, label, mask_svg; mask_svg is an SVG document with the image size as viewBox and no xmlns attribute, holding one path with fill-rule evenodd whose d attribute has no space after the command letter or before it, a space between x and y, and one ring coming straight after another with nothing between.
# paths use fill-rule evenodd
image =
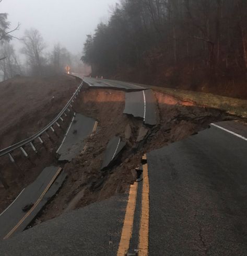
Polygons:
<instances>
[{"instance_id":1,"label":"pale foggy bare trees on the left skyline","mask_svg":"<svg viewBox=\"0 0 247 256\"><path fill-rule=\"evenodd\" d=\"M62 74L67 65L77 73L90 72L89 67L80 61L80 54L70 53L60 43L47 50L48 45L35 28L26 29L23 36L17 38L15 31L21 24L14 29L10 29L10 25L8 14L0 13L0 81L16 75L45 77ZM13 40L21 42L21 50L16 51Z\"/></svg>"}]
</instances>

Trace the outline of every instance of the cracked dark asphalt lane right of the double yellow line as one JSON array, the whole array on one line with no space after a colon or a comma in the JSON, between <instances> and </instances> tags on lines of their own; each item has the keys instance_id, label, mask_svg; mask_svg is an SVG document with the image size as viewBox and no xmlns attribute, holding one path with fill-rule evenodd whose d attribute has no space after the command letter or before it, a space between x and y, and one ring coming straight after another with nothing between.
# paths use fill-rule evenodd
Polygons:
<instances>
[{"instance_id":1,"label":"cracked dark asphalt lane right of the double yellow line","mask_svg":"<svg viewBox=\"0 0 247 256\"><path fill-rule=\"evenodd\" d=\"M213 125L147 154L149 255L247 255L246 156Z\"/></svg>"}]
</instances>

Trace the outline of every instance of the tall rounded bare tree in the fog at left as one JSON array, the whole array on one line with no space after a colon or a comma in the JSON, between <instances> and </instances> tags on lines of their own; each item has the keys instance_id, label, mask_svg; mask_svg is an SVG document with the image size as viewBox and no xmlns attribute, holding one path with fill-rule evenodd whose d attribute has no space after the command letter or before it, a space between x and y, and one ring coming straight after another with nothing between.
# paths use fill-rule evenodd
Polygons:
<instances>
[{"instance_id":1,"label":"tall rounded bare tree in the fog at left","mask_svg":"<svg viewBox=\"0 0 247 256\"><path fill-rule=\"evenodd\" d=\"M27 62L32 75L41 76L43 74L43 66L46 61L43 55L43 50L46 45L40 32L33 28L26 30L24 37L21 40L24 44L21 52L27 57Z\"/></svg>"}]
</instances>

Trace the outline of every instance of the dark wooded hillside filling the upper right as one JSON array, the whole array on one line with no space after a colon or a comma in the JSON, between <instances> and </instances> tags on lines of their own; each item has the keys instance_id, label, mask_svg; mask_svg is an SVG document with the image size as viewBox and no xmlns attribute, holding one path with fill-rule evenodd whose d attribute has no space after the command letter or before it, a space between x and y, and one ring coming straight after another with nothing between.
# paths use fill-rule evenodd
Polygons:
<instances>
[{"instance_id":1,"label":"dark wooded hillside filling the upper right","mask_svg":"<svg viewBox=\"0 0 247 256\"><path fill-rule=\"evenodd\" d=\"M247 1L122 0L81 60L94 76L247 98Z\"/></svg>"}]
</instances>

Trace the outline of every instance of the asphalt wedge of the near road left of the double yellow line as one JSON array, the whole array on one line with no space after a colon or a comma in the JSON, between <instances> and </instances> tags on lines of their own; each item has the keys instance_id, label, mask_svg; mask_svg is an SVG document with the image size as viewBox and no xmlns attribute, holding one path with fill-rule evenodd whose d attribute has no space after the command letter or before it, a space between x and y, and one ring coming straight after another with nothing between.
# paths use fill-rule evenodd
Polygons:
<instances>
[{"instance_id":1,"label":"asphalt wedge of the near road left of the double yellow line","mask_svg":"<svg viewBox=\"0 0 247 256\"><path fill-rule=\"evenodd\" d=\"M115 256L127 198L127 194L113 196L0 241L0 254Z\"/></svg>"}]
</instances>

